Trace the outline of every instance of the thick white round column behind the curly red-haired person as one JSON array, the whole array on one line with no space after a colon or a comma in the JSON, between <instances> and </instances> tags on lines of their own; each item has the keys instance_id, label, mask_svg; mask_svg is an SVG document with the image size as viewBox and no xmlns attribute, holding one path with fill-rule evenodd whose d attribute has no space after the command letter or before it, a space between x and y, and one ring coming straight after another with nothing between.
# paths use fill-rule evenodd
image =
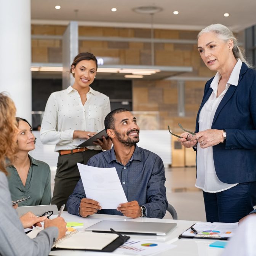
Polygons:
<instances>
[{"instance_id":1,"label":"thick white round column behind the curly red-haired person","mask_svg":"<svg viewBox=\"0 0 256 256\"><path fill-rule=\"evenodd\" d=\"M0 0L0 92L32 120L30 0Z\"/></svg>"}]
</instances>

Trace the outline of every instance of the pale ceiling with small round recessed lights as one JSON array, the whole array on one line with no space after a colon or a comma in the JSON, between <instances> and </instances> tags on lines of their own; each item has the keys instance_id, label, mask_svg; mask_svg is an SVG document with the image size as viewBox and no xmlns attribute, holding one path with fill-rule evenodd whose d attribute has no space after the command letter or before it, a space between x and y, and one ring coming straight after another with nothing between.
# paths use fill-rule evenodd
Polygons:
<instances>
[{"instance_id":1,"label":"pale ceiling with small round recessed lights","mask_svg":"<svg viewBox=\"0 0 256 256\"><path fill-rule=\"evenodd\" d=\"M61 9L56 10L55 5ZM139 6L159 6L154 27L200 30L222 23L235 32L256 24L255 0L31 0L32 22L66 24L76 20L89 26L150 27L150 15L138 14ZM112 12L111 8L117 8ZM77 10L77 11L75 11ZM179 11L174 15L173 11ZM229 13L228 18L224 13Z\"/></svg>"}]
</instances>

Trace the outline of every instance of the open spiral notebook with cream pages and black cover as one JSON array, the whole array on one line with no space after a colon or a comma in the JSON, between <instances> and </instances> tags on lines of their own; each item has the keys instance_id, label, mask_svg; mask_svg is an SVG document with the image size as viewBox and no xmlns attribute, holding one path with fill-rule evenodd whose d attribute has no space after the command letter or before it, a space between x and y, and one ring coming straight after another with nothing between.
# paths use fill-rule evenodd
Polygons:
<instances>
[{"instance_id":1,"label":"open spiral notebook with cream pages and black cover","mask_svg":"<svg viewBox=\"0 0 256 256\"><path fill-rule=\"evenodd\" d=\"M37 236L42 228L36 227L29 234L30 238ZM66 234L63 238L54 242L51 250L90 250L111 252L126 242L130 237L112 233L80 232L78 230Z\"/></svg>"}]
</instances>

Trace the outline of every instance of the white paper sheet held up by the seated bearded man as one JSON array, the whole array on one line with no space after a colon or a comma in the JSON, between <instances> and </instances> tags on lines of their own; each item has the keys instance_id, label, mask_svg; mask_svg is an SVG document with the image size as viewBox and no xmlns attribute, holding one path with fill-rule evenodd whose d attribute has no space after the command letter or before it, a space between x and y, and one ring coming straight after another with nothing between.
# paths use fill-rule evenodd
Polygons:
<instances>
[{"instance_id":1,"label":"white paper sheet held up by the seated bearded man","mask_svg":"<svg viewBox=\"0 0 256 256\"><path fill-rule=\"evenodd\" d=\"M98 168L77 163L86 198L99 202L102 209L116 209L127 198L115 168Z\"/></svg>"}]
</instances>

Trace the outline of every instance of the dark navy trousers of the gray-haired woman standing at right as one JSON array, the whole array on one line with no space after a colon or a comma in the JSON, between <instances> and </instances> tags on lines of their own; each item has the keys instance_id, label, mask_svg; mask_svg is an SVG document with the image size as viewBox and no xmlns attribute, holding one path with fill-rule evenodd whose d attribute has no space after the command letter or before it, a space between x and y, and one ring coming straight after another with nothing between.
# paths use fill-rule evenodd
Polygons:
<instances>
[{"instance_id":1,"label":"dark navy trousers of the gray-haired woman standing at right","mask_svg":"<svg viewBox=\"0 0 256 256\"><path fill-rule=\"evenodd\" d=\"M218 193L203 191L206 221L238 222L256 205L256 182L239 183Z\"/></svg>"}]
</instances>

